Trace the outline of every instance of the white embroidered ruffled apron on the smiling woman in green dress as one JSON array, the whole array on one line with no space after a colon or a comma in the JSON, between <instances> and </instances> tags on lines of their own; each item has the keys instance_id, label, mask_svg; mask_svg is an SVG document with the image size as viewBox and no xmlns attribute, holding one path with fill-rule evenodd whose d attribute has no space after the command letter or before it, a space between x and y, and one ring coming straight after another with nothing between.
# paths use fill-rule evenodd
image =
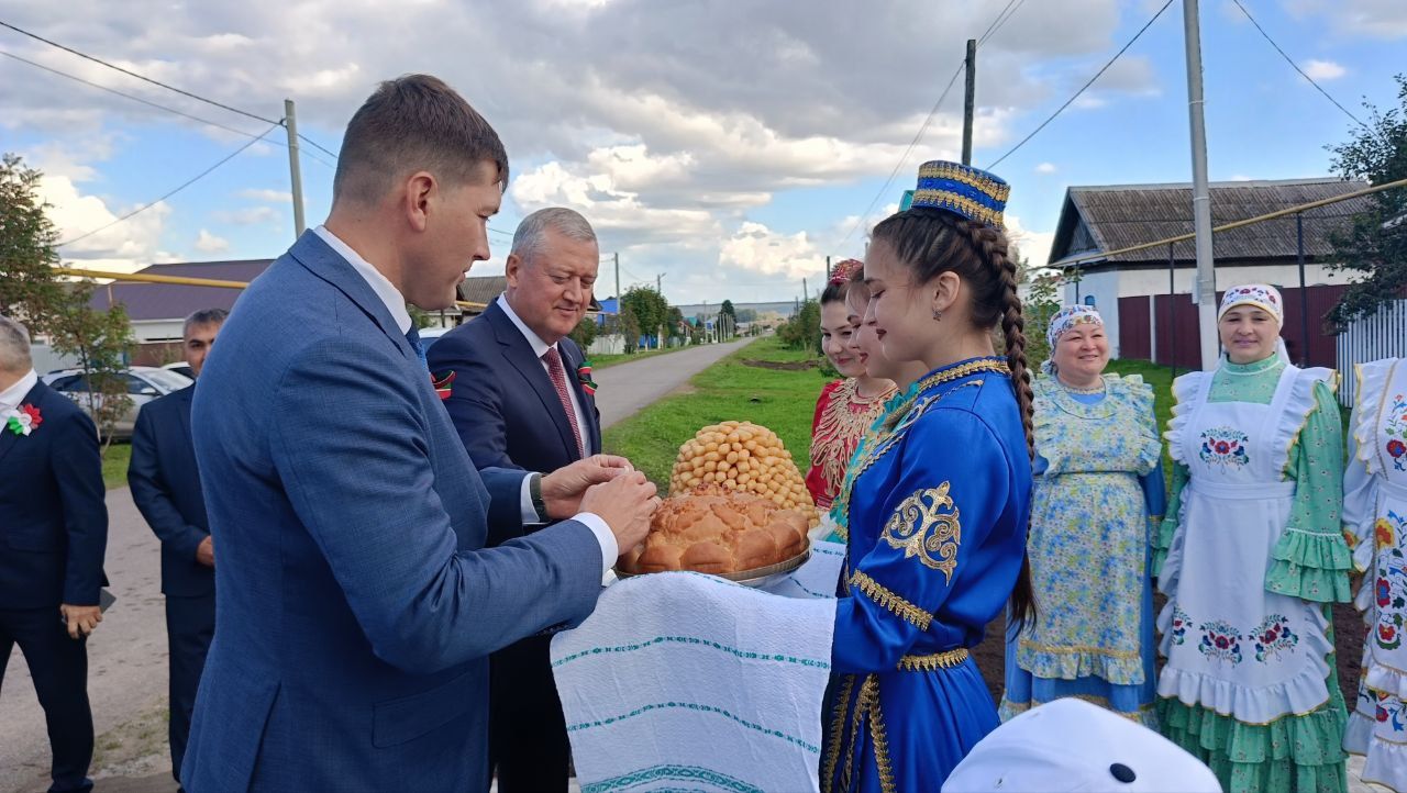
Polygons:
<instances>
[{"instance_id":1,"label":"white embroidered ruffled apron on the smiling woman in green dress","mask_svg":"<svg viewBox=\"0 0 1407 793\"><path fill-rule=\"evenodd\" d=\"M1282 472L1307 413L1304 392L1313 401L1310 377L1296 388L1300 375L1285 367L1271 404L1255 405L1209 402L1213 375L1200 373L1188 420L1169 433L1173 458L1192 477L1159 579L1169 600L1158 617L1168 658L1158 695L1247 724L1328 700L1332 645L1321 607L1265 589L1294 501Z\"/></svg>"}]
</instances>

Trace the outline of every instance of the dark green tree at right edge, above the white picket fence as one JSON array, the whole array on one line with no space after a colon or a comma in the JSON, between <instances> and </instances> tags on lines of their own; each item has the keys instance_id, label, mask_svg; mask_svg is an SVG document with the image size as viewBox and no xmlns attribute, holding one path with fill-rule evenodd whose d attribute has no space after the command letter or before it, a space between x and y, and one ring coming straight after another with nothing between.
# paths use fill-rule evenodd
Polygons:
<instances>
[{"instance_id":1,"label":"dark green tree at right edge, above the white picket fence","mask_svg":"<svg viewBox=\"0 0 1407 793\"><path fill-rule=\"evenodd\" d=\"M1365 103L1370 124L1334 152L1334 170L1345 179L1386 184L1407 179L1407 75L1397 75L1399 107L1380 111ZM1407 287L1407 188L1383 190L1369 197L1370 208L1354 217L1352 226L1330 235L1335 262L1330 267L1362 276L1330 311L1338 328L1372 316Z\"/></svg>"}]
</instances>

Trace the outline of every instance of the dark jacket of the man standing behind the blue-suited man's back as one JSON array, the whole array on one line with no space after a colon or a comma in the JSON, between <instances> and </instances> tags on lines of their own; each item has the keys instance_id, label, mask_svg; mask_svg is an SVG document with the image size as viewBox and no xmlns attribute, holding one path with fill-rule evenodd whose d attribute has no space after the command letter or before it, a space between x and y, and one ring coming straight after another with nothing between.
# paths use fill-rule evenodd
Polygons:
<instances>
[{"instance_id":1,"label":"dark jacket of the man standing behind the blue-suited man's back","mask_svg":"<svg viewBox=\"0 0 1407 793\"><path fill-rule=\"evenodd\" d=\"M142 406L127 468L132 501L162 541L162 593L177 598L215 591L214 568L196 561L196 548L210 536L210 522L190 440L194 394L196 387L187 385Z\"/></svg>"}]
</instances>

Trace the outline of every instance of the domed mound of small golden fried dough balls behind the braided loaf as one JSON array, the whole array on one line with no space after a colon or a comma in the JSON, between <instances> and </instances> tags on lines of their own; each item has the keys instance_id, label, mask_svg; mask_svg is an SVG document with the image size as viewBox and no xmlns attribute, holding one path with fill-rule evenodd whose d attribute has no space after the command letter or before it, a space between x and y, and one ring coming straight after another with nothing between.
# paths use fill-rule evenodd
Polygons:
<instances>
[{"instance_id":1,"label":"domed mound of small golden fried dough balls behind the braided loaf","mask_svg":"<svg viewBox=\"0 0 1407 793\"><path fill-rule=\"evenodd\" d=\"M820 522L791 451L777 433L753 422L709 425L680 446L670 492L688 492L698 485L760 495L782 509L801 512L808 526Z\"/></svg>"}]
</instances>

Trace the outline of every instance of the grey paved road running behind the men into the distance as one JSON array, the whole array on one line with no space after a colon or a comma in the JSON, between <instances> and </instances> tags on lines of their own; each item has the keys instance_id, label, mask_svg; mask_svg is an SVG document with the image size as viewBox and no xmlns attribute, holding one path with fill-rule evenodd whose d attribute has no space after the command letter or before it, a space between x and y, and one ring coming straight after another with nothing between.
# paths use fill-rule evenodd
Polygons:
<instances>
[{"instance_id":1,"label":"grey paved road running behind the men into the distance","mask_svg":"<svg viewBox=\"0 0 1407 793\"><path fill-rule=\"evenodd\" d=\"M609 426L674 391L743 343L680 350L598 371L602 425ZM89 697L98 735L94 776L100 782L107 778L98 789L114 793L172 790L165 756L166 612L160 546L127 488L110 491L107 508L106 568L118 600L89 640ZM42 790L48 786L48 771L44 711L24 658L13 652L0 689L0 792Z\"/></svg>"}]
</instances>

